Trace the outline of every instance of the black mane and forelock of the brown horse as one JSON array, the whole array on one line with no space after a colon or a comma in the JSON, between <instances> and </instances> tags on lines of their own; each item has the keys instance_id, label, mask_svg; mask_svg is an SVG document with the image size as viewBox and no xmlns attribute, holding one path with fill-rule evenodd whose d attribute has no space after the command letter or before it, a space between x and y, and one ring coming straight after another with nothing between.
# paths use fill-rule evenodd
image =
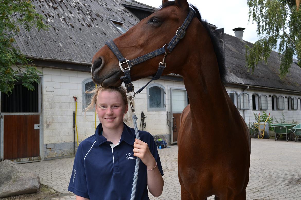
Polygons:
<instances>
[{"instance_id":1,"label":"black mane and forelock of the brown horse","mask_svg":"<svg viewBox=\"0 0 301 200\"><path fill-rule=\"evenodd\" d=\"M164 4L162 4L158 9L162 9L162 8L169 7L172 5L177 5L177 4L175 1L168 1ZM219 75L220 75L222 82L224 82L225 76L227 74L226 67L225 67L225 58L224 58L224 53L222 51L222 48L219 45L216 34L213 33L212 29L209 27L209 23L206 22L205 20L202 20L199 10L194 5L192 5L192 4L189 4L189 5L195 12L194 16L201 22L201 24L205 27L206 31L208 32L208 34L210 36L210 39L211 39L211 42L213 45L213 50L215 52L216 59L217 59L218 65L219 65Z\"/></svg>"}]
</instances>

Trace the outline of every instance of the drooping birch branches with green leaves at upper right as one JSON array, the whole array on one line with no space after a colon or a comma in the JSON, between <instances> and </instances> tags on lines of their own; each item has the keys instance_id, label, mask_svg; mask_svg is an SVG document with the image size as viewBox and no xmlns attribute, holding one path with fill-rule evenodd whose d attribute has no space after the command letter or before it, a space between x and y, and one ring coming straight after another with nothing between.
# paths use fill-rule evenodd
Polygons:
<instances>
[{"instance_id":1,"label":"drooping birch branches with green leaves at upper right","mask_svg":"<svg viewBox=\"0 0 301 200\"><path fill-rule=\"evenodd\" d=\"M283 79L297 56L301 66L301 10L295 0L248 0L249 22L257 24L257 40L246 47L247 67L254 72L261 61L267 61L272 50L279 47L280 78ZM280 41L279 45L277 41Z\"/></svg>"}]
</instances>

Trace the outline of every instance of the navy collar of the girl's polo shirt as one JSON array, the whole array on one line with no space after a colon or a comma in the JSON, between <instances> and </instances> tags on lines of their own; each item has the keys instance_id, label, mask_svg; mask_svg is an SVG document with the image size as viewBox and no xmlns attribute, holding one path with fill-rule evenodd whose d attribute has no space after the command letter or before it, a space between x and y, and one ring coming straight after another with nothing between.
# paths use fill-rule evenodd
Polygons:
<instances>
[{"instance_id":1,"label":"navy collar of the girl's polo shirt","mask_svg":"<svg viewBox=\"0 0 301 200\"><path fill-rule=\"evenodd\" d=\"M103 130L102 124L99 123L95 130L95 136L96 136L98 145L108 142L107 139L101 135L102 130ZM122 142L123 140L126 143L128 143L129 145L134 145L134 142L135 142L135 130L133 131L133 129L131 129L124 123L123 123L123 132L121 134L120 142Z\"/></svg>"}]
</instances>

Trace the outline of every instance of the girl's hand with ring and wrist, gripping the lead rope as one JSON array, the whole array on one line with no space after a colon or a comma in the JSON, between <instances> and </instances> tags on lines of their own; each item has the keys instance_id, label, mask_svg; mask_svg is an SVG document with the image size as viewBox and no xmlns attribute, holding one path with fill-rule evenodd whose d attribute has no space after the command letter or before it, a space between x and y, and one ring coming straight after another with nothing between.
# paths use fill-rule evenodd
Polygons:
<instances>
[{"instance_id":1,"label":"girl's hand with ring and wrist, gripping the lead rope","mask_svg":"<svg viewBox=\"0 0 301 200\"><path fill-rule=\"evenodd\" d=\"M135 139L133 152L133 156L140 158L147 169L153 169L156 166L156 160L151 154L147 143Z\"/></svg>"}]
</instances>

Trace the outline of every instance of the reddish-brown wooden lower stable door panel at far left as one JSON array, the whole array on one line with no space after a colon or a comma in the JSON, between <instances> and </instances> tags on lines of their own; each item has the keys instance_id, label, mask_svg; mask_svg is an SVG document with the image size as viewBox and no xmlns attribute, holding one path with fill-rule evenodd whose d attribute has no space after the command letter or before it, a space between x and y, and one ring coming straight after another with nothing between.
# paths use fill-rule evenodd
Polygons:
<instances>
[{"instance_id":1,"label":"reddish-brown wooden lower stable door panel at far left","mask_svg":"<svg viewBox=\"0 0 301 200\"><path fill-rule=\"evenodd\" d=\"M3 158L18 159L37 157L40 154L40 115L3 115Z\"/></svg>"}]
</instances>

